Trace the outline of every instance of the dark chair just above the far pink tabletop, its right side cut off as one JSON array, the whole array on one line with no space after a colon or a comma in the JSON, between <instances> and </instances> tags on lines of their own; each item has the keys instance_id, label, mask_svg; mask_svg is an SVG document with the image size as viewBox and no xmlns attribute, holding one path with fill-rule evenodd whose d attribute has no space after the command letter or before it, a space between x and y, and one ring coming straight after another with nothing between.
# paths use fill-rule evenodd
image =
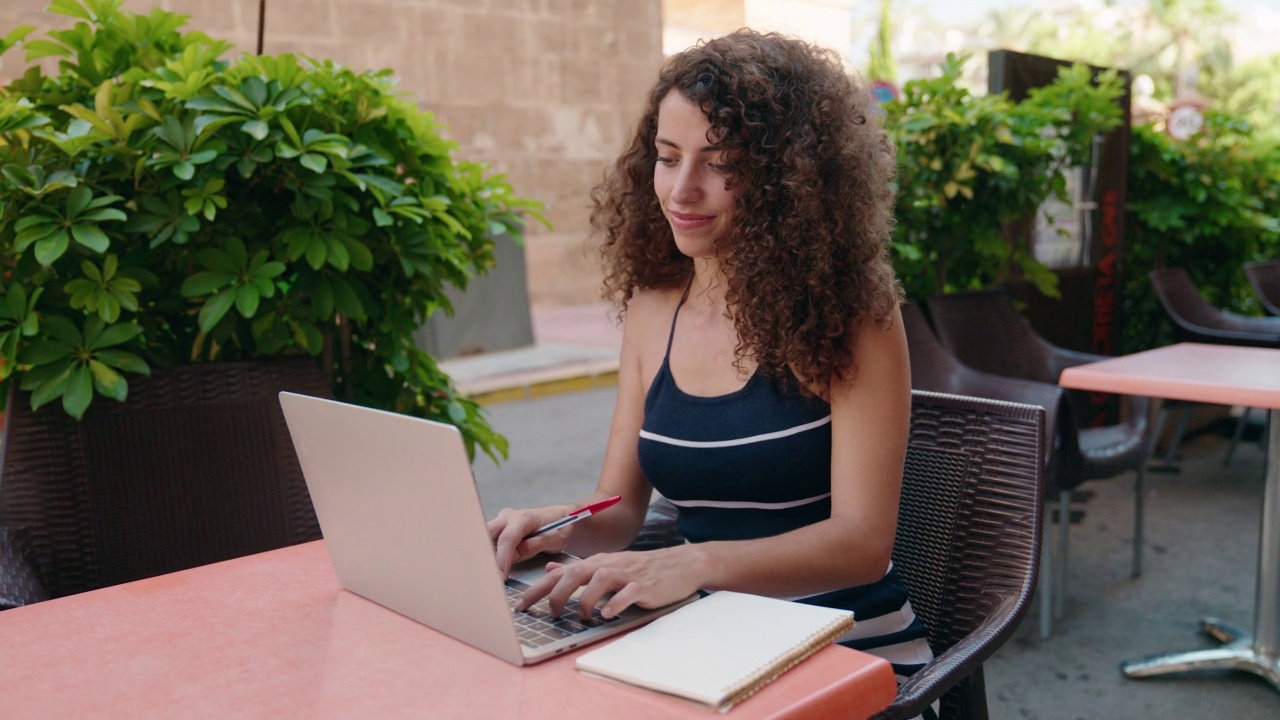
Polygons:
<instances>
[{"instance_id":1,"label":"dark chair just above the far pink tabletop, its right side cut off","mask_svg":"<svg viewBox=\"0 0 1280 720\"><path fill-rule=\"evenodd\" d=\"M1147 273L1180 342L1280 347L1280 318L1251 318L1210 305L1181 268Z\"/></svg>"}]
</instances>

